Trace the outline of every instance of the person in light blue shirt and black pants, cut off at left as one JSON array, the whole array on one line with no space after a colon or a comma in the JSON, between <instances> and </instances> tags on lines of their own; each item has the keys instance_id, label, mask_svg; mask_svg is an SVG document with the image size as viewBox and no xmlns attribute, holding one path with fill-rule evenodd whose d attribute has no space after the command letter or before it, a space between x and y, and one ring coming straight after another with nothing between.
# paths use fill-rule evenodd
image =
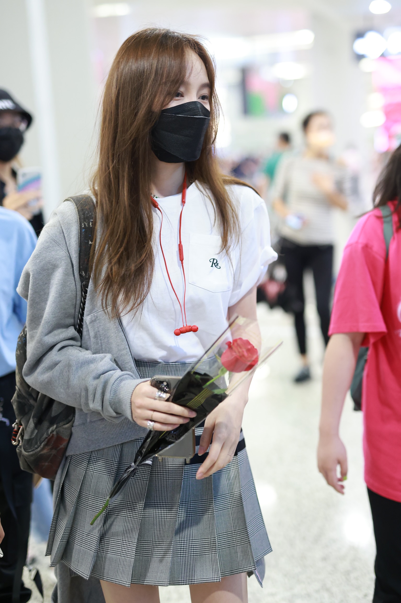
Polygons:
<instances>
[{"instance_id":1,"label":"person in light blue shirt and black pants, cut off at left","mask_svg":"<svg viewBox=\"0 0 401 603\"><path fill-rule=\"evenodd\" d=\"M32 475L20 469L11 444L15 421L11 398L16 387L17 338L26 320L26 301L16 288L36 241L33 227L20 213L0 207L0 517L7 528L0 558L2 603L23 603L31 597L22 583L22 569L30 531Z\"/></svg>"}]
</instances>

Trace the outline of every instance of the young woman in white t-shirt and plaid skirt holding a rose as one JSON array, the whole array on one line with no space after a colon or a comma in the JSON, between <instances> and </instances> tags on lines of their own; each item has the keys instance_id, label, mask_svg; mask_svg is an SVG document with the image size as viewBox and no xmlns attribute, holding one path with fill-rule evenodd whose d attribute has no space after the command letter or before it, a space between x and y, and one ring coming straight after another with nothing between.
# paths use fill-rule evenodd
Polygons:
<instances>
[{"instance_id":1,"label":"young woman in white t-shirt and plaid skirt holding a rose","mask_svg":"<svg viewBox=\"0 0 401 603\"><path fill-rule=\"evenodd\" d=\"M194 603L246 601L246 573L261 581L271 550L241 433L249 384L197 429L190 464L140 467L90 525L148 429L194 415L155 397L149 379L183 374L232 315L255 318L256 283L276 257L264 201L217 167L214 77L194 37L148 29L123 43L104 92L82 343L72 203L54 212L20 283L24 376L76 408L48 554L100 579L106 603L153 603L167 584L190 584ZM181 333L184 298L197 330Z\"/></svg>"}]
</instances>

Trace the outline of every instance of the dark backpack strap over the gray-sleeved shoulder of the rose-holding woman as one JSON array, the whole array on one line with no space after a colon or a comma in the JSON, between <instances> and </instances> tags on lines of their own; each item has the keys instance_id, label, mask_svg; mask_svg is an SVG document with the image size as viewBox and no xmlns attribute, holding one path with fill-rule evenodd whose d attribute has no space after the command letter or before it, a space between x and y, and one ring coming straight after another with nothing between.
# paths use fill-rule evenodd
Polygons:
<instances>
[{"instance_id":1,"label":"dark backpack strap over the gray-sleeved shoulder of the rose-holding woman","mask_svg":"<svg viewBox=\"0 0 401 603\"><path fill-rule=\"evenodd\" d=\"M81 281L81 305L79 306L78 323L76 332L82 337L84 325L84 312L86 296L90 281L89 258L93 241L93 218L95 215L95 203L90 195L76 195L69 197L66 201L72 201L78 215L78 262L79 280Z\"/></svg>"}]
</instances>

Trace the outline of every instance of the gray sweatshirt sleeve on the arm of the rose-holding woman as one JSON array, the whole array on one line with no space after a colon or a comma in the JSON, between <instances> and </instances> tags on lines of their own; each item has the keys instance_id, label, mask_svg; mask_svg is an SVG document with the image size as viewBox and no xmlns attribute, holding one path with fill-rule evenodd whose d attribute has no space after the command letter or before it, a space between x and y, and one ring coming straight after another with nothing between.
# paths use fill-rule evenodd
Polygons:
<instances>
[{"instance_id":1,"label":"gray sweatshirt sleeve on the arm of the rose-holding woman","mask_svg":"<svg viewBox=\"0 0 401 603\"><path fill-rule=\"evenodd\" d=\"M64 404L108 420L132 421L132 391L143 379L120 370L111 354L82 348L75 330L81 301L78 235L69 250L68 229L72 236L78 233L78 221L75 207L63 203L43 229L19 282L18 292L28 301L23 377Z\"/></svg>"}]
</instances>

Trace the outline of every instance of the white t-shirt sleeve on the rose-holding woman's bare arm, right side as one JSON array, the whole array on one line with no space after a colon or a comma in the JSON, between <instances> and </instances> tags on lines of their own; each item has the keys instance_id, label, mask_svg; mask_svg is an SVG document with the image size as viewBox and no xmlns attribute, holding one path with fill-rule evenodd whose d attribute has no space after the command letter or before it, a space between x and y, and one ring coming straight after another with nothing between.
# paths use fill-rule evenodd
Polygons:
<instances>
[{"instance_id":1,"label":"white t-shirt sleeve on the rose-holding woman's bare arm, right side","mask_svg":"<svg viewBox=\"0 0 401 603\"><path fill-rule=\"evenodd\" d=\"M266 203L249 187L235 188L243 189L238 191L241 236L234 267L234 286L228 306L233 306L254 285L258 285L269 264L277 259L277 254L270 244L270 222Z\"/></svg>"}]
</instances>

